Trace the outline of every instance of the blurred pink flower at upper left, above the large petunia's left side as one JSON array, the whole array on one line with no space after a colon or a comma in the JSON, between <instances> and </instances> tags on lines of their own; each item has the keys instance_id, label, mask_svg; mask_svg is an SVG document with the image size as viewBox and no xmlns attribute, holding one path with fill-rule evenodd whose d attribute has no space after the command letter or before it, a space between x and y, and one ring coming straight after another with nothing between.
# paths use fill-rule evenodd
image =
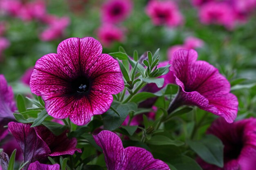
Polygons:
<instances>
[{"instance_id":1,"label":"blurred pink flower at upper left, above the large petunia's left side","mask_svg":"<svg viewBox=\"0 0 256 170\"><path fill-rule=\"evenodd\" d=\"M60 38L70 24L70 18L68 17L49 17L45 21L49 23L49 26L40 34L40 39L42 41L52 41Z\"/></svg>"}]
</instances>

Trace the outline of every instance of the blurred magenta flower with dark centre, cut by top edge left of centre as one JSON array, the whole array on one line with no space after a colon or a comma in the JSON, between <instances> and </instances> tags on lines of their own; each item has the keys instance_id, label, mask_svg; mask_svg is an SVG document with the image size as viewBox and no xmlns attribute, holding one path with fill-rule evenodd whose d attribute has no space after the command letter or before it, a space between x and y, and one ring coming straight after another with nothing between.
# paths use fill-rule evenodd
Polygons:
<instances>
[{"instance_id":1,"label":"blurred magenta flower with dark centre, cut by top edge left of centre","mask_svg":"<svg viewBox=\"0 0 256 170\"><path fill-rule=\"evenodd\" d=\"M131 0L108 0L101 9L103 22L117 23L125 20L132 11Z\"/></svg>"}]
</instances>

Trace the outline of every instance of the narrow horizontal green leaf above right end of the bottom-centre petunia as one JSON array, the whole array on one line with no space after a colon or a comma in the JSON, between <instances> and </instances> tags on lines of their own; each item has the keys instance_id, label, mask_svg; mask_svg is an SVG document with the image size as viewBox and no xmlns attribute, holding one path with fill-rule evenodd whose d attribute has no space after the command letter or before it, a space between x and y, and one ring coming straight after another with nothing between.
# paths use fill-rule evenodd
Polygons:
<instances>
[{"instance_id":1,"label":"narrow horizontal green leaf above right end of the bottom-centre petunia","mask_svg":"<svg viewBox=\"0 0 256 170\"><path fill-rule=\"evenodd\" d=\"M175 145L175 146L184 145L184 142L182 141L172 140L162 135L155 135L151 137L151 139L148 140L147 143L151 145Z\"/></svg>"}]
</instances>

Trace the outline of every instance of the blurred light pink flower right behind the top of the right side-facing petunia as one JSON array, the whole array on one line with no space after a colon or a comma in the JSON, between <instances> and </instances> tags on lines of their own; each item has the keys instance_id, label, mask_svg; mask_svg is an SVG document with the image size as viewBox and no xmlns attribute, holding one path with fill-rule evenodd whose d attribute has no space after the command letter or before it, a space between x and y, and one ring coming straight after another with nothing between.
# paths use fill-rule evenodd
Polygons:
<instances>
[{"instance_id":1,"label":"blurred light pink flower right behind the top of the right side-facing petunia","mask_svg":"<svg viewBox=\"0 0 256 170\"><path fill-rule=\"evenodd\" d=\"M204 45L203 40L193 36L189 36L185 39L183 45L174 45L167 50L168 60L171 60L173 53L179 49L186 49L186 50L197 49L202 47L203 45Z\"/></svg>"}]
</instances>

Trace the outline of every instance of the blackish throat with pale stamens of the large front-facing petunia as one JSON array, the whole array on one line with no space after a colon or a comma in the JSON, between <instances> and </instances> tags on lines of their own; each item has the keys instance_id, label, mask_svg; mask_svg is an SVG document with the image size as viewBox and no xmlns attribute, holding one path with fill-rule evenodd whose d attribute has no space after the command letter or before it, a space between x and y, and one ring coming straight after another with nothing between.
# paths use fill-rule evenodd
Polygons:
<instances>
[{"instance_id":1,"label":"blackish throat with pale stamens of the large front-facing petunia","mask_svg":"<svg viewBox=\"0 0 256 170\"><path fill-rule=\"evenodd\" d=\"M71 82L73 93L83 94L90 89L90 80L87 77L81 76Z\"/></svg>"}]
</instances>

